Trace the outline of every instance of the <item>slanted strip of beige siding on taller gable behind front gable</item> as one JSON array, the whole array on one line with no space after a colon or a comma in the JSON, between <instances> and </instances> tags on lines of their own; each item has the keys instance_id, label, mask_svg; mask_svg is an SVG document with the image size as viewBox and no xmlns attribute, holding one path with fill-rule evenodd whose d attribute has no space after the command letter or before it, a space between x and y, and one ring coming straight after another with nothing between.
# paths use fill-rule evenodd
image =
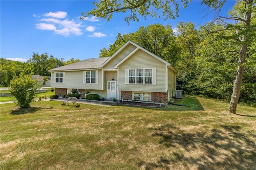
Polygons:
<instances>
[{"instance_id":1,"label":"slanted strip of beige siding on taller gable behind front gable","mask_svg":"<svg viewBox=\"0 0 256 170\"><path fill-rule=\"evenodd\" d=\"M104 65L104 69L114 69L114 66L118 64L122 59L124 59L124 57L130 54L134 49L136 49L136 46L129 44L114 58L112 58L106 65Z\"/></svg>"}]
</instances>

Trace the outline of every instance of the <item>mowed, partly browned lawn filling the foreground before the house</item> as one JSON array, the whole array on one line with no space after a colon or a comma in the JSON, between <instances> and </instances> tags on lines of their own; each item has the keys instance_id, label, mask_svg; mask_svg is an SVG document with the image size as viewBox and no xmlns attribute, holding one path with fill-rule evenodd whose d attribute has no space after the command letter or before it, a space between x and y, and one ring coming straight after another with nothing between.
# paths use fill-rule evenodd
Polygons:
<instances>
[{"instance_id":1,"label":"mowed, partly browned lawn filling the foreground before the house","mask_svg":"<svg viewBox=\"0 0 256 170\"><path fill-rule=\"evenodd\" d=\"M179 101L182 103L182 101ZM186 97L165 109L2 104L1 170L255 169L256 108Z\"/></svg>"}]
</instances>

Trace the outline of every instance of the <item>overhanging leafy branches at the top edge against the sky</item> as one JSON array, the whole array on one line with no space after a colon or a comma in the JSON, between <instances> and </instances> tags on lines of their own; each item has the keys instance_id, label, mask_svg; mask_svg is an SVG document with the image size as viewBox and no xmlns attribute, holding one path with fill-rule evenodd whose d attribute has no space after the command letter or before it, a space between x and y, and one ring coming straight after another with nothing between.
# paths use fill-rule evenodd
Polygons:
<instances>
[{"instance_id":1,"label":"overhanging leafy branches at the top edge against the sky","mask_svg":"<svg viewBox=\"0 0 256 170\"><path fill-rule=\"evenodd\" d=\"M182 0L184 8L186 4L190 2L190 0ZM165 16L165 19L178 17L178 7L179 4L176 1L171 0L159 0L159 1L152 1L152 0L141 0L141 1L123 1L123 0L101 0L98 3L93 2L96 8L93 8L90 12L84 13L82 12L83 19L88 17L89 15L93 15L100 18L105 18L108 21L112 18L113 12L122 12L128 14L124 18L124 20L129 24L132 21L139 21L137 15L159 18L158 14L156 13L157 10L162 9L162 15ZM152 10L155 9L156 11Z\"/></svg>"}]
</instances>

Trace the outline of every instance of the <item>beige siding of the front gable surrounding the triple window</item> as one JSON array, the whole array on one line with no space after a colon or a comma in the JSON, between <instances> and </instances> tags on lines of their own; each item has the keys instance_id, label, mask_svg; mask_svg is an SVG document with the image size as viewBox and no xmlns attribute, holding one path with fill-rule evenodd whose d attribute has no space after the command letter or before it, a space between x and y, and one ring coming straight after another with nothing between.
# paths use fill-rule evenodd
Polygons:
<instances>
[{"instance_id":1,"label":"beige siding of the front gable surrounding the triple window","mask_svg":"<svg viewBox=\"0 0 256 170\"><path fill-rule=\"evenodd\" d=\"M156 85L152 84L125 84L125 69L156 68ZM152 55L139 49L119 66L119 91L148 91L167 92L166 65Z\"/></svg>"}]
</instances>

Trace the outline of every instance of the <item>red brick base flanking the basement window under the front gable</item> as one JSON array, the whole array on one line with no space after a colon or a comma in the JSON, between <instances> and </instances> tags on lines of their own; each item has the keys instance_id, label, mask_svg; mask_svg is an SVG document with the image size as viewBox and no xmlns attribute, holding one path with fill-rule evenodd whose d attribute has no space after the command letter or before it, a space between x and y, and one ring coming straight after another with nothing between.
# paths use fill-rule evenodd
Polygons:
<instances>
[{"instance_id":1,"label":"red brick base flanking the basement window under the front gable","mask_svg":"<svg viewBox=\"0 0 256 170\"><path fill-rule=\"evenodd\" d=\"M121 91L121 99L132 100L132 91ZM157 103L168 103L168 93L151 92L151 101Z\"/></svg>"}]
</instances>

